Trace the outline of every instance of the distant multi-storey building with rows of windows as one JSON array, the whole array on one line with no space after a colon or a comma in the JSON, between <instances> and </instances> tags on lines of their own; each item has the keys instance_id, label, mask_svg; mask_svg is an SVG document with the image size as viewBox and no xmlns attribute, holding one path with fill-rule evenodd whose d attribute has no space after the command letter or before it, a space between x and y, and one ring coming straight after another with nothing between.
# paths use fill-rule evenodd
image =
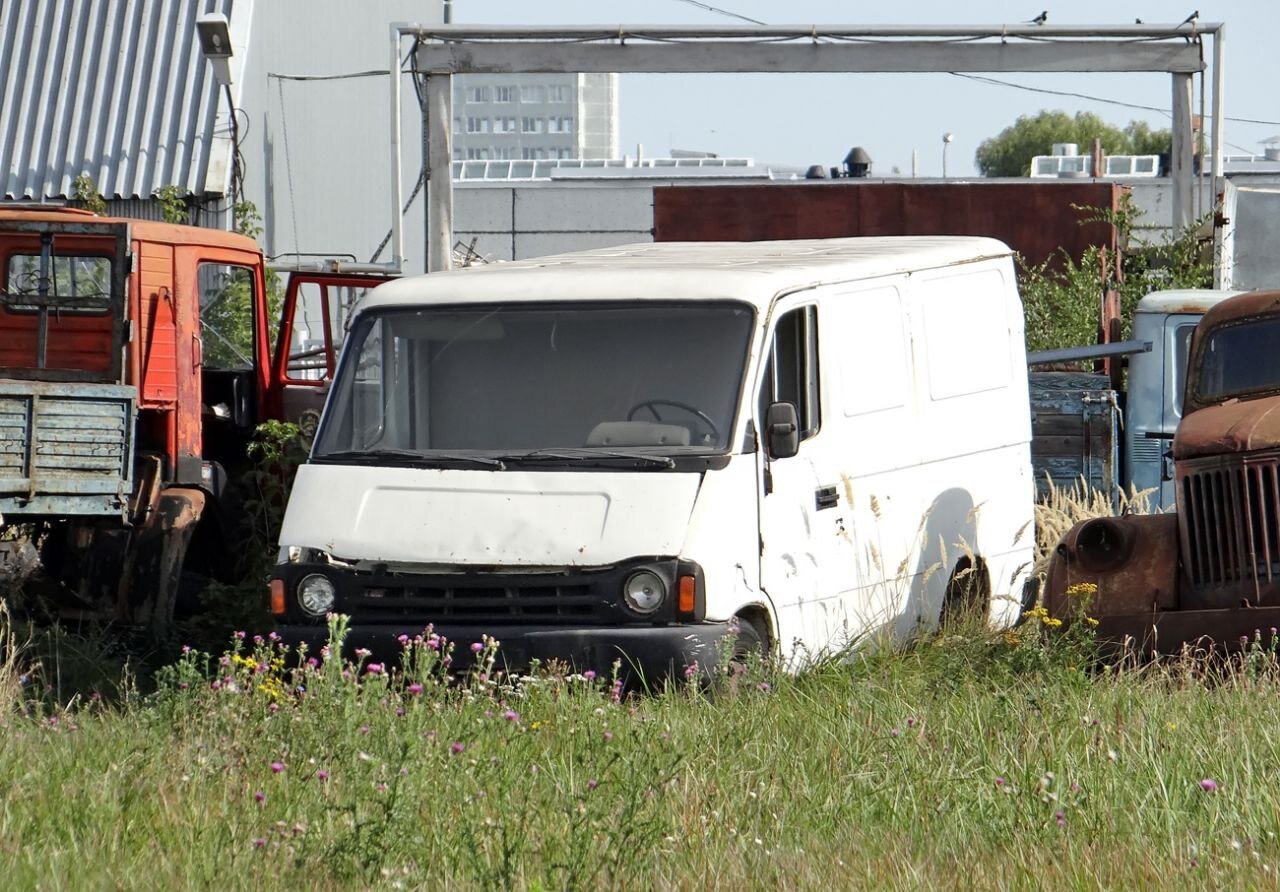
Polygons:
<instances>
[{"instance_id":1,"label":"distant multi-storey building with rows of windows","mask_svg":"<svg viewBox=\"0 0 1280 892\"><path fill-rule=\"evenodd\" d=\"M453 79L453 160L618 156L617 74Z\"/></svg>"}]
</instances>

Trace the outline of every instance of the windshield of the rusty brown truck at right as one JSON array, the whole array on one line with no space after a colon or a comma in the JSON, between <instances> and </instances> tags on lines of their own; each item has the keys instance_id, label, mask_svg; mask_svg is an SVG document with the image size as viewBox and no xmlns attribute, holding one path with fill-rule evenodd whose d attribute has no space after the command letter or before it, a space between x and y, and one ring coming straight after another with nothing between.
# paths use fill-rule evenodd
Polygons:
<instances>
[{"instance_id":1,"label":"windshield of the rusty brown truck at right","mask_svg":"<svg viewBox=\"0 0 1280 892\"><path fill-rule=\"evenodd\" d=\"M1280 390L1280 317L1265 316L1210 331L1196 389L1206 402Z\"/></svg>"}]
</instances>

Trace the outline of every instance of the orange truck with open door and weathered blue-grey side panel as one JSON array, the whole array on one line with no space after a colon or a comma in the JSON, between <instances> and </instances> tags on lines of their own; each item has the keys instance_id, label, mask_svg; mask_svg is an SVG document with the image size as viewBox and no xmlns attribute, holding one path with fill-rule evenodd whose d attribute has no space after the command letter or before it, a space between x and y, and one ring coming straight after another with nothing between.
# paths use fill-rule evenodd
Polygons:
<instances>
[{"instance_id":1,"label":"orange truck with open door and weathered blue-grey side panel","mask_svg":"<svg viewBox=\"0 0 1280 892\"><path fill-rule=\"evenodd\" d=\"M0 209L0 582L168 626L184 571L233 563L228 480L255 426L319 417L346 314L387 278L284 287L236 233Z\"/></svg>"}]
</instances>

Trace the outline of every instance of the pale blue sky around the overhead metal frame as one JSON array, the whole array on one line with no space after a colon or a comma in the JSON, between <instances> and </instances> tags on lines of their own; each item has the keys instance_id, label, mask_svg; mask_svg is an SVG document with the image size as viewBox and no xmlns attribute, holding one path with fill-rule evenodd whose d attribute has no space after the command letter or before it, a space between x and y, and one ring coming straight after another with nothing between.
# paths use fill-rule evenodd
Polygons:
<instances>
[{"instance_id":1,"label":"pale blue sky around the overhead metal frame","mask_svg":"<svg viewBox=\"0 0 1280 892\"><path fill-rule=\"evenodd\" d=\"M701 0L699 0L701 3ZM998 24L1027 20L1048 8L1051 24L1176 23L1198 3L1201 20L1225 22L1226 114L1280 122L1280 95L1274 88L1280 52L1280 18L1275 0L1231 0L1203 5L1203 0L1053 0L996 3L966 0L909 0L858 3L851 0L705 0L771 24ZM1032 4L1036 4L1034 8ZM687 0L453 0L456 23L484 24L732 24ZM1206 54L1212 59L1211 42ZM622 151L634 155L644 145L648 156L669 148L695 148L722 155L794 165L835 165L851 146L872 156L873 173L902 174L919 152L920 175L942 171L942 134L954 133L947 148L947 173L974 173L978 143L995 136L1019 115L1041 109L1094 111L1108 123L1132 119L1167 127L1167 74L997 74L1024 87L1070 91L1152 106L1165 111L1107 105L1029 90L998 87L950 74L630 74L621 84ZM1196 83L1199 101L1199 82ZM1206 104L1212 99L1206 78ZM1197 108L1198 111L1198 108ZM1210 109L1206 105L1206 115ZM1260 142L1280 134L1280 123L1228 122L1226 151L1261 154Z\"/></svg>"}]
</instances>

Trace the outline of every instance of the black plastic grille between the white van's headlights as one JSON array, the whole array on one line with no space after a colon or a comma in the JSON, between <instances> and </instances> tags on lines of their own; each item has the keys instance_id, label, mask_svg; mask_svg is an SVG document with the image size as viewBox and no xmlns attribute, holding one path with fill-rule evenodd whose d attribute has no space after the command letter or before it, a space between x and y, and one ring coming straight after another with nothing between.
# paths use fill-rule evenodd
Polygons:
<instances>
[{"instance_id":1,"label":"black plastic grille between the white van's headlights","mask_svg":"<svg viewBox=\"0 0 1280 892\"><path fill-rule=\"evenodd\" d=\"M367 617L556 622L598 618L600 598L588 585L420 586L369 585L351 607Z\"/></svg>"}]
</instances>

